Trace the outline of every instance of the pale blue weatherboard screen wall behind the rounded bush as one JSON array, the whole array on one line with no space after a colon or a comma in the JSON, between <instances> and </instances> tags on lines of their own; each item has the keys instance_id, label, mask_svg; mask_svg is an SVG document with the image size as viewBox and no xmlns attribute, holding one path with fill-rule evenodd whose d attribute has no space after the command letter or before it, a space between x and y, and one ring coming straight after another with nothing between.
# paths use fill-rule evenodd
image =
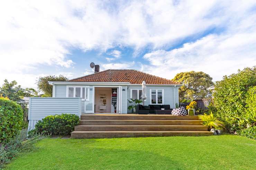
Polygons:
<instances>
[{"instance_id":1,"label":"pale blue weatherboard screen wall behind the rounded bush","mask_svg":"<svg viewBox=\"0 0 256 170\"><path fill-rule=\"evenodd\" d=\"M60 97L30 97L28 130L32 130L38 120L49 115L60 115L62 113L81 115L81 98Z\"/></svg>"}]
</instances>

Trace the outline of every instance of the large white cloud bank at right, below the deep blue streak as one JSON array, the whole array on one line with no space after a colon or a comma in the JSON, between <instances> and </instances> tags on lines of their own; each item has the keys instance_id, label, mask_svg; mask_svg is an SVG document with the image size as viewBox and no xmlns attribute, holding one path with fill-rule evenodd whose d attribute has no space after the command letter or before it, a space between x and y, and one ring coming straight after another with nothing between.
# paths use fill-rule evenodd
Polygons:
<instances>
[{"instance_id":1,"label":"large white cloud bank at right, below the deep blue streak","mask_svg":"<svg viewBox=\"0 0 256 170\"><path fill-rule=\"evenodd\" d=\"M169 79L180 72L203 71L212 76L213 81L220 80L224 75L256 64L255 40L256 31L208 35L178 49L145 54L144 59L150 64L143 65L144 71Z\"/></svg>"}]
</instances>

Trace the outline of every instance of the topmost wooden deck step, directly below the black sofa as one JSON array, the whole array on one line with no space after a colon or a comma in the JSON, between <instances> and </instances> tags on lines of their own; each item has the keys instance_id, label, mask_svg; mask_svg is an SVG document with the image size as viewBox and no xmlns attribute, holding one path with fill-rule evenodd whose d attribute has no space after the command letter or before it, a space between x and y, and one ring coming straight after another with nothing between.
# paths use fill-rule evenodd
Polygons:
<instances>
[{"instance_id":1,"label":"topmost wooden deck step, directly below the black sofa","mask_svg":"<svg viewBox=\"0 0 256 170\"><path fill-rule=\"evenodd\" d=\"M136 115L136 114L82 114L81 120L198 120L198 116Z\"/></svg>"}]
</instances>

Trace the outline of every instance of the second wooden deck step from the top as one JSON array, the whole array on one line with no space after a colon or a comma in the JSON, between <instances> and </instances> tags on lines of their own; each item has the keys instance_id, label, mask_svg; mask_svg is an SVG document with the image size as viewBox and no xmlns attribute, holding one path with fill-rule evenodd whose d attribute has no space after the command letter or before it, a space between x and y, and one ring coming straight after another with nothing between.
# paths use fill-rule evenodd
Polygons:
<instances>
[{"instance_id":1,"label":"second wooden deck step from the top","mask_svg":"<svg viewBox=\"0 0 256 170\"><path fill-rule=\"evenodd\" d=\"M80 125L202 125L201 120L80 120Z\"/></svg>"}]
</instances>

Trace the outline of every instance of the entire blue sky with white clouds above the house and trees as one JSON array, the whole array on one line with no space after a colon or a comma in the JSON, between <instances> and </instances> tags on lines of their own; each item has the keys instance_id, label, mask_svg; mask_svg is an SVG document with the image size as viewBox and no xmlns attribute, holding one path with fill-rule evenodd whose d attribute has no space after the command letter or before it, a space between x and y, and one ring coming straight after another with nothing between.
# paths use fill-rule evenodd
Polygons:
<instances>
[{"instance_id":1,"label":"entire blue sky with white clouds above the house and trees","mask_svg":"<svg viewBox=\"0 0 256 170\"><path fill-rule=\"evenodd\" d=\"M171 79L256 65L256 2L27 1L0 5L0 82L136 69ZM2 84L2 83L1 83Z\"/></svg>"}]
</instances>

